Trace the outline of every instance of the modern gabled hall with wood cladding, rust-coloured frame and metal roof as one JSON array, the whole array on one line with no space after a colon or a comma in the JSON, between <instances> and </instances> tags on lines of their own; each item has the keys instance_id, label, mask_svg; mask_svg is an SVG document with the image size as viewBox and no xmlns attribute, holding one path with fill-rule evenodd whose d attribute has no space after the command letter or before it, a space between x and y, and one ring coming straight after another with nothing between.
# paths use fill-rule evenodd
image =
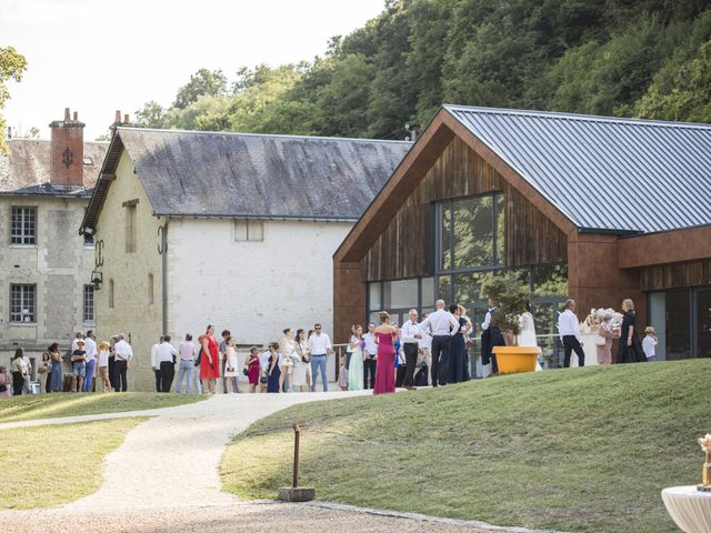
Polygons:
<instances>
[{"instance_id":1,"label":"modern gabled hall with wood cladding, rust-coloured frame and metal roof","mask_svg":"<svg viewBox=\"0 0 711 533\"><path fill-rule=\"evenodd\" d=\"M336 332L435 298L480 324L509 270L549 339L568 296L631 298L660 359L711 356L710 161L708 124L445 105L334 254Z\"/></svg>"}]
</instances>

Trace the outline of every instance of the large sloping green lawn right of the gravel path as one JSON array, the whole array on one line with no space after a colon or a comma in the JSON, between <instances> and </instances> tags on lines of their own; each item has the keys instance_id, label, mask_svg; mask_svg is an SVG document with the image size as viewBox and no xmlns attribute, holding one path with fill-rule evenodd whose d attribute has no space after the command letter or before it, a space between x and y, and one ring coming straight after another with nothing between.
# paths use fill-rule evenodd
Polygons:
<instances>
[{"instance_id":1,"label":"large sloping green lawn right of the gravel path","mask_svg":"<svg viewBox=\"0 0 711 533\"><path fill-rule=\"evenodd\" d=\"M711 360L593 366L297 405L238 435L224 490L561 531L675 532L660 492L697 483Z\"/></svg>"}]
</instances>

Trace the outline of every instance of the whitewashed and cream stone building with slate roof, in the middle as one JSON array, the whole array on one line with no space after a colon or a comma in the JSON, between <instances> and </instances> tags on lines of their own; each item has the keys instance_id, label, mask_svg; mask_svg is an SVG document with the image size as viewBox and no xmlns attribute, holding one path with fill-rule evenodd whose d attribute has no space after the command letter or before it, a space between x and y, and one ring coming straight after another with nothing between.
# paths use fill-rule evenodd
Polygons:
<instances>
[{"instance_id":1,"label":"whitewashed and cream stone building with slate roof, in the middle","mask_svg":"<svg viewBox=\"0 0 711 533\"><path fill-rule=\"evenodd\" d=\"M153 386L163 332L331 331L331 255L409 147L118 128L80 231L101 258L98 334L126 333L137 355L130 386Z\"/></svg>"}]
</instances>

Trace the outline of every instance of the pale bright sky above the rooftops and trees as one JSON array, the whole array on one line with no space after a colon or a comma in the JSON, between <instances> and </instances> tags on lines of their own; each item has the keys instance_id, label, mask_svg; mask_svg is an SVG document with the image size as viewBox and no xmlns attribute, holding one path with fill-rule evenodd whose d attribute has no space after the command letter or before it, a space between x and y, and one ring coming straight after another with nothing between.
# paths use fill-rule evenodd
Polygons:
<instances>
[{"instance_id":1,"label":"pale bright sky above the rooftops and trees","mask_svg":"<svg viewBox=\"0 0 711 533\"><path fill-rule=\"evenodd\" d=\"M61 120L64 108L104 134L116 110L170 105L200 68L232 81L242 66L322 56L328 40L375 17L384 0L0 0L0 47L28 61L9 82L4 110L16 132Z\"/></svg>"}]
</instances>

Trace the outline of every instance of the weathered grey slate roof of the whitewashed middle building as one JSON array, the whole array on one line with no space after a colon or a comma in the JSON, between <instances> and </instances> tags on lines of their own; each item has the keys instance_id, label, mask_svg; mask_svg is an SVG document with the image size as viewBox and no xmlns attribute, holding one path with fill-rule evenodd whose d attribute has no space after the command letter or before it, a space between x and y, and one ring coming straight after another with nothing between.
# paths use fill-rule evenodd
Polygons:
<instances>
[{"instance_id":1,"label":"weathered grey slate roof of the whitewashed middle building","mask_svg":"<svg viewBox=\"0 0 711 533\"><path fill-rule=\"evenodd\" d=\"M96 229L123 149L159 215L356 221L410 147L403 141L118 128L83 225Z\"/></svg>"}]
</instances>

